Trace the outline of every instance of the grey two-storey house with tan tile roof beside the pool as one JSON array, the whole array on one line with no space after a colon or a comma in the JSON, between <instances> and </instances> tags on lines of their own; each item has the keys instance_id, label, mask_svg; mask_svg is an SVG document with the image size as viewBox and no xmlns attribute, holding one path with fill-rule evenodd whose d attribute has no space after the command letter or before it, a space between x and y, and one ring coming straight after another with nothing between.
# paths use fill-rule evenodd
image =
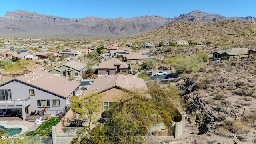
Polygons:
<instances>
[{"instance_id":1,"label":"grey two-storey house with tan tile roof beside the pool","mask_svg":"<svg viewBox=\"0 0 256 144\"><path fill-rule=\"evenodd\" d=\"M57 114L69 106L69 98L80 95L80 83L44 71L34 71L0 84L0 109L22 115L46 107L47 114Z\"/></svg>"}]
</instances>

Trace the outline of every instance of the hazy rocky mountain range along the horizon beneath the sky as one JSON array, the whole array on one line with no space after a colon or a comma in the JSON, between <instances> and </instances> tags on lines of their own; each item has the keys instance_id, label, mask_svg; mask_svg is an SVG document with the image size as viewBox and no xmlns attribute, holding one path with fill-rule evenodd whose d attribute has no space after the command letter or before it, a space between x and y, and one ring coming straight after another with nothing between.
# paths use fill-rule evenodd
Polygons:
<instances>
[{"instance_id":1,"label":"hazy rocky mountain range along the horizon beneath the sky","mask_svg":"<svg viewBox=\"0 0 256 144\"><path fill-rule=\"evenodd\" d=\"M174 18L140 16L133 18L62 18L29 11L6 12L0 17L0 36L131 36L181 21L256 21L255 17L225 17L194 10Z\"/></svg>"}]
</instances>

